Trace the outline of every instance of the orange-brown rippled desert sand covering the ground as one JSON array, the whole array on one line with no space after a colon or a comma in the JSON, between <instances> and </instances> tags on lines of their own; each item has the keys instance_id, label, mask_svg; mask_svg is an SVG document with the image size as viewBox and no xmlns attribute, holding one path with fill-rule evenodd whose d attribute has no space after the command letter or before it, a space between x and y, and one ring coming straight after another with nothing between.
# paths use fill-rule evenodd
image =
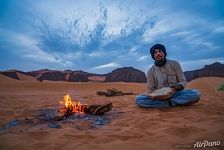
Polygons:
<instances>
[{"instance_id":1,"label":"orange-brown rippled desert sand covering the ground","mask_svg":"<svg viewBox=\"0 0 224 150\"><path fill-rule=\"evenodd\" d=\"M91 128L88 121L76 121L62 128L47 125L17 127L0 132L4 150L169 150L194 149L197 141L220 141L224 149L224 92L217 91L224 78L205 77L188 83L199 89L201 100L191 106L143 109L136 106L135 95L105 97L96 91L117 88L123 92L145 93L140 83L68 83L17 81L0 76L0 126L14 119L29 118L39 109L55 108L65 94L85 104L113 103L116 113L102 127ZM79 126L77 128L77 125Z\"/></svg>"}]
</instances>

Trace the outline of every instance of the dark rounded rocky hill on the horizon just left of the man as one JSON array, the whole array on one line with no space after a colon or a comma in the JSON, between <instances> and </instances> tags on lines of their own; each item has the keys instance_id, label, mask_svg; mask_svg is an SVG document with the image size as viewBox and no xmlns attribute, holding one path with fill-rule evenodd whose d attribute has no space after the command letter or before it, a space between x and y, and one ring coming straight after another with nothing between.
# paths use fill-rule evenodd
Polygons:
<instances>
[{"instance_id":1,"label":"dark rounded rocky hill on the horizon just left of the man","mask_svg":"<svg viewBox=\"0 0 224 150\"><path fill-rule=\"evenodd\" d=\"M118 68L107 74L105 82L139 82L145 83L145 73L132 67Z\"/></svg>"}]
</instances>

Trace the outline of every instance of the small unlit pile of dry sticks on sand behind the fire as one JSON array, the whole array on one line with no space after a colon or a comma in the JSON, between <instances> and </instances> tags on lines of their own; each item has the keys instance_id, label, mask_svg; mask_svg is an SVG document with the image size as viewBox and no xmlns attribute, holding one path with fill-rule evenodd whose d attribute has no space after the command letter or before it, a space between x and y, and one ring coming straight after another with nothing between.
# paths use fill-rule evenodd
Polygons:
<instances>
[{"instance_id":1,"label":"small unlit pile of dry sticks on sand behind the fire","mask_svg":"<svg viewBox=\"0 0 224 150\"><path fill-rule=\"evenodd\" d=\"M124 92L122 92L122 91L119 91L119 90L113 88L113 89L107 89L106 92L103 92L103 91L97 91L96 94L97 94L97 95L105 95L105 96L110 97L110 96L133 95L134 93L132 93L132 92L124 93Z\"/></svg>"}]
</instances>

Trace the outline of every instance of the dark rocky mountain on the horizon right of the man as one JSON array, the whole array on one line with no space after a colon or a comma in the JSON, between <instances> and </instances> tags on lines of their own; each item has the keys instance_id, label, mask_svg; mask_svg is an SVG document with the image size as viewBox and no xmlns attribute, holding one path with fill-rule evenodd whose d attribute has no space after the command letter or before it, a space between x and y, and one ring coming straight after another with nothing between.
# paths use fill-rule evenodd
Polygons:
<instances>
[{"instance_id":1,"label":"dark rocky mountain on the horizon right of the man","mask_svg":"<svg viewBox=\"0 0 224 150\"><path fill-rule=\"evenodd\" d=\"M185 71L184 74L187 81L191 81L199 77L224 77L224 64L215 62L211 65L205 65L205 67L202 69Z\"/></svg>"}]
</instances>

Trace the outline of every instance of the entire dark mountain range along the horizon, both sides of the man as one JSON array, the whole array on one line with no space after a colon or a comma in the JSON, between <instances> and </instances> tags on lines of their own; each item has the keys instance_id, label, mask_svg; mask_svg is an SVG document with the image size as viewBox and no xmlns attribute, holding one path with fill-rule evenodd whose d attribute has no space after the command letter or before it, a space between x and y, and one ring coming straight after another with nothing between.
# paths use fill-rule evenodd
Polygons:
<instances>
[{"instance_id":1,"label":"entire dark mountain range along the horizon, both sides of the man","mask_svg":"<svg viewBox=\"0 0 224 150\"><path fill-rule=\"evenodd\" d=\"M123 67L113 70L108 74L94 74L84 72L82 70L58 71L42 69L30 72L20 70L1 71L0 74L8 76L16 80L33 80L33 81L67 81L67 82L138 82L146 83L146 75L144 72L132 67ZM187 81L199 77L224 77L224 64L219 62L206 65L202 69L184 72Z\"/></svg>"}]
</instances>

